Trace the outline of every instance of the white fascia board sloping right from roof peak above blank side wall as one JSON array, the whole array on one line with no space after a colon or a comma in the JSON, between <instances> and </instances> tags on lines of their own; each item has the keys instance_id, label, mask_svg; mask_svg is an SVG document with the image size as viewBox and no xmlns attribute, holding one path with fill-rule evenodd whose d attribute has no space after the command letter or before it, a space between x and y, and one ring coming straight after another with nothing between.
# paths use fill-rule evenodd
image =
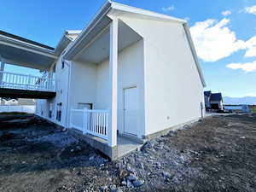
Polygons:
<instances>
[{"instance_id":1,"label":"white fascia board sloping right from roof peak above blank side wall","mask_svg":"<svg viewBox=\"0 0 256 192\"><path fill-rule=\"evenodd\" d=\"M137 15L143 15L143 16L148 16L151 18L155 18L155 19L160 19L160 20L172 20L172 21L176 21L176 22L181 22L181 23L186 23L187 20L182 20L182 19L178 19L176 17L172 17L169 15L163 15L163 14L159 14L159 13L155 13L153 11L148 11L145 9L139 9L139 8L135 8L135 7L131 7L125 4L121 4L121 3L115 3L112 2L111 4L112 9L116 9L119 11L124 11L124 12L129 12L132 14L137 14Z\"/></svg>"}]
</instances>

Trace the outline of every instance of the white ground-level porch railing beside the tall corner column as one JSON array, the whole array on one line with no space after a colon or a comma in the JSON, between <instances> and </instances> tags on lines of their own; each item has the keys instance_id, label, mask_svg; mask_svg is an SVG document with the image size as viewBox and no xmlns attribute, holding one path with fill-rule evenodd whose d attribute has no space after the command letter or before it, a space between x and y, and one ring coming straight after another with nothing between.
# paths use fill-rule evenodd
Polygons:
<instances>
[{"instance_id":1,"label":"white ground-level porch railing beside the tall corner column","mask_svg":"<svg viewBox=\"0 0 256 192\"><path fill-rule=\"evenodd\" d=\"M70 125L84 134L108 140L108 110L72 109Z\"/></svg>"}]
</instances>

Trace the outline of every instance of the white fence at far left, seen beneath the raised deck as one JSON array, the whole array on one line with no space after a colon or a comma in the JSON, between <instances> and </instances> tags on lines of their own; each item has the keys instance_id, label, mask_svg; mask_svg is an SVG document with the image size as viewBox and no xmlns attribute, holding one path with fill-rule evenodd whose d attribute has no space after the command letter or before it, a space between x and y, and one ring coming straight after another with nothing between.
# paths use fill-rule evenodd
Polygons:
<instances>
[{"instance_id":1,"label":"white fence at far left, seen beneath the raised deck","mask_svg":"<svg viewBox=\"0 0 256 192\"><path fill-rule=\"evenodd\" d=\"M0 113L35 113L35 105L0 105Z\"/></svg>"}]
</instances>

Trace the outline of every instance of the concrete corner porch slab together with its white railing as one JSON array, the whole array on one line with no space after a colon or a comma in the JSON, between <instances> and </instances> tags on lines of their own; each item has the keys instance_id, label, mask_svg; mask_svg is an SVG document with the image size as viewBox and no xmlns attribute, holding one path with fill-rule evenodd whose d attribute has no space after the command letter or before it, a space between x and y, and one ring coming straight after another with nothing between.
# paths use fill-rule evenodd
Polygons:
<instances>
[{"instance_id":1,"label":"concrete corner porch slab together with its white railing","mask_svg":"<svg viewBox=\"0 0 256 192\"><path fill-rule=\"evenodd\" d=\"M126 137L125 135L116 135L116 145L109 146L108 137L108 110L88 110L88 109L72 109L71 128L85 142L103 154L107 154L112 160L125 156L134 150L139 150L143 146L143 140ZM109 147L110 148L109 148Z\"/></svg>"}]
</instances>

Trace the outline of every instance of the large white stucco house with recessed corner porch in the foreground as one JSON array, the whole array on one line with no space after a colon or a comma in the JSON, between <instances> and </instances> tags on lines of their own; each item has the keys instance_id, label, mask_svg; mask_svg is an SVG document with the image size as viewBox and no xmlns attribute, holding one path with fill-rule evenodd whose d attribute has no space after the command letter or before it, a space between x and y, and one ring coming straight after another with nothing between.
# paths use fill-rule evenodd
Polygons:
<instances>
[{"instance_id":1,"label":"large white stucco house with recessed corner porch in the foreground","mask_svg":"<svg viewBox=\"0 0 256 192\"><path fill-rule=\"evenodd\" d=\"M49 97L37 114L76 128L112 159L128 152L117 151L120 136L141 143L204 116L205 81L186 20L108 1L82 32L67 31L47 51L37 61L49 78L30 86Z\"/></svg>"}]
</instances>

